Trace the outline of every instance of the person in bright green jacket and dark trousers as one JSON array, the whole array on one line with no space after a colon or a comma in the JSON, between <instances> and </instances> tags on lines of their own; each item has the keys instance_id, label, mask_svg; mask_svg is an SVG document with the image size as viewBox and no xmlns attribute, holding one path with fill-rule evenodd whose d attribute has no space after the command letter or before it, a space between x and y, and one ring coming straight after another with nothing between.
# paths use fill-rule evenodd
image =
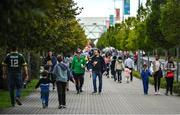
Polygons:
<instances>
[{"instance_id":1,"label":"person in bright green jacket and dark trousers","mask_svg":"<svg viewBox=\"0 0 180 115\"><path fill-rule=\"evenodd\" d=\"M76 55L74 56L73 61L71 63L71 69L74 74L77 94L82 92L82 85L84 82L83 77L84 77L84 73L85 73L85 65L86 65L85 57L81 56L80 51L77 51Z\"/></svg>"}]
</instances>

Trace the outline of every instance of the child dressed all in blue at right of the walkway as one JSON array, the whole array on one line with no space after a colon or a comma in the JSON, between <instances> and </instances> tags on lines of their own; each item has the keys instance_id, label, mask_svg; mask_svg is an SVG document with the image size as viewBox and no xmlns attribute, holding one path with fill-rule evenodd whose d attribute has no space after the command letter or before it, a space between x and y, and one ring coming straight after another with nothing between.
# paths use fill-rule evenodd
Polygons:
<instances>
[{"instance_id":1,"label":"child dressed all in blue at right of the walkway","mask_svg":"<svg viewBox=\"0 0 180 115\"><path fill-rule=\"evenodd\" d=\"M148 94L149 76L151 76L150 70L146 64L143 64L143 70L141 71L141 78L143 82L144 95Z\"/></svg>"}]
</instances>

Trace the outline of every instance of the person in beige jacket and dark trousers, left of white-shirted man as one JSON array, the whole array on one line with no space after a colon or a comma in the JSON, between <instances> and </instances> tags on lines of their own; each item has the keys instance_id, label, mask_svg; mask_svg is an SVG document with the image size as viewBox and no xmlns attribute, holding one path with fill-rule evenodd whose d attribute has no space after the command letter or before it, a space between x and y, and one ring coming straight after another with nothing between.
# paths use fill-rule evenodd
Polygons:
<instances>
[{"instance_id":1,"label":"person in beige jacket and dark trousers, left of white-shirted man","mask_svg":"<svg viewBox=\"0 0 180 115\"><path fill-rule=\"evenodd\" d=\"M117 73L117 79L118 82L122 82L122 71L124 70L124 64L122 61L122 57L118 57L118 59L115 62L115 71Z\"/></svg>"}]
</instances>

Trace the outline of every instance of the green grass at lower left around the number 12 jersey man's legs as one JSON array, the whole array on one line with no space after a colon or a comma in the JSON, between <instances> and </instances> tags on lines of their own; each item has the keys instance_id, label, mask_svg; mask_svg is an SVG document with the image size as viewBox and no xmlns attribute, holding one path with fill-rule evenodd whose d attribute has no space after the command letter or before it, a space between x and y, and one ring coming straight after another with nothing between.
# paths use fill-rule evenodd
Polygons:
<instances>
[{"instance_id":1,"label":"green grass at lower left around the number 12 jersey man's legs","mask_svg":"<svg viewBox=\"0 0 180 115\"><path fill-rule=\"evenodd\" d=\"M22 89L22 94L21 94L22 99L28 96L31 92L33 92L37 82L38 80L36 79L31 80L31 82L28 83L27 88ZM11 102L10 102L9 91L0 90L0 109L8 108L10 106L11 106Z\"/></svg>"}]
</instances>

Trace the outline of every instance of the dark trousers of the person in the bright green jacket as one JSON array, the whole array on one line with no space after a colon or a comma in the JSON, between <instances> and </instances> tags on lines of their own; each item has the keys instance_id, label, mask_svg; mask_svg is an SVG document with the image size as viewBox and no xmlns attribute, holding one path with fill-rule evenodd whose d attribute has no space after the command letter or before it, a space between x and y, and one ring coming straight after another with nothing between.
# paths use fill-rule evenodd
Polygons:
<instances>
[{"instance_id":1,"label":"dark trousers of the person in the bright green jacket","mask_svg":"<svg viewBox=\"0 0 180 115\"><path fill-rule=\"evenodd\" d=\"M80 90L82 89L83 82L84 82L84 74L74 73L74 79L76 82L76 91L80 92Z\"/></svg>"}]
</instances>

